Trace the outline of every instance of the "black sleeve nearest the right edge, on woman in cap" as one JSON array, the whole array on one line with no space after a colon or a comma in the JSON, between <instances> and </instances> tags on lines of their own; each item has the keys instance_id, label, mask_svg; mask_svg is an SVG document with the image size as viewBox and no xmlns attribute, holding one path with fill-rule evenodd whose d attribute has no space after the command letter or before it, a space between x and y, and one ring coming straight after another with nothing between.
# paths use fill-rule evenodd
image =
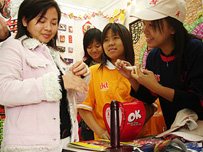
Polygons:
<instances>
[{"instance_id":1,"label":"black sleeve nearest the right edge, on woman in cap","mask_svg":"<svg viewBox=\"0 0 203 152\"><path fill-rule=\"evenodd\" d=\"M186 89L176 89L173 102L179 106L203 112L203 43L193 40L188 44L186 53Z\"/></svg>"}]
</instances>

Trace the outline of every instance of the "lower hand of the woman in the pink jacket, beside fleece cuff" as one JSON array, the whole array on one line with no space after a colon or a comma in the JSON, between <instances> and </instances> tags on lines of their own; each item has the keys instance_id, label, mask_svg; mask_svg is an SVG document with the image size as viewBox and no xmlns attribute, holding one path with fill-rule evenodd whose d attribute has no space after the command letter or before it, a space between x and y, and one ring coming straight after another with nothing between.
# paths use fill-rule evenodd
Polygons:
<instances>
[{"instance_id":1,"label":"lower hand of the woman in the pink jacket, beside fleece cuff","mask_svg":"<svg viewBox=\"0 0 203 152\"><path fill-rule=\"evenodd\" d=\"M74 75L73 73L68 73L62 76L64 88L74 89L76 91L87 93L88 92L88 84L82 78Z\"/></svg>"}]
</instances>

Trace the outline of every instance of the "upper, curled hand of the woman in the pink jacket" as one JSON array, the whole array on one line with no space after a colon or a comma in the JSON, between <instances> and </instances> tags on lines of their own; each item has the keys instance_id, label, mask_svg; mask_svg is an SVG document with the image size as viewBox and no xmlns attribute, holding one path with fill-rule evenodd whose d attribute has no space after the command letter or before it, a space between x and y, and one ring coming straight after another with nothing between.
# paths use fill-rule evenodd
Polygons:
<instances>
[{"instance_id":1,"label":"upper, curled hand of the woman in the pink jacket","mask_svg":"<svg viewBox=\"0 0 203 152\"><path fill-rule=\"evenodd\" d=\"M73 64L70 71L72 71L72 73L76 76L90 75L90 70L83 61L77 61L75 64Z\"/></svg>"}]
</instances>

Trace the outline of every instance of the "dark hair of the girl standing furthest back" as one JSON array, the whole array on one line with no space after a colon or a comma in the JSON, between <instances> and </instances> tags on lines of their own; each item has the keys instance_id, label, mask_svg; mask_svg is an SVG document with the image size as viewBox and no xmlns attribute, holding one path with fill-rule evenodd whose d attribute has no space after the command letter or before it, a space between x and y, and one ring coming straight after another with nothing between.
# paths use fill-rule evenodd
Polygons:
<instances>
[{"instance_id":1,"label":"dark hair of the girl standing furthest back","mask_svg":"<svg viewBox=\"0 0 203 152\"><path fill-rule=\"evenodd\" d=\"M83 38L83 48L85 50L85 63L89 66L91 61L93 60L92 57L88 54L87 48L93 41L96 40L98 43L101 43L101 31L97 28L89 29Z\"/></svg>"}]
</instances>

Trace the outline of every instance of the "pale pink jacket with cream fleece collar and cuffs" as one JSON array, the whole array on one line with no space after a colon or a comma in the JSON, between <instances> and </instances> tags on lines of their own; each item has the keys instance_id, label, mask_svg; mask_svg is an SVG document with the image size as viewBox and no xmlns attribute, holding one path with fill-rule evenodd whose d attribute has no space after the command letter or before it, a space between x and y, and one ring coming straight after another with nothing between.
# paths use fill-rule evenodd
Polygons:
<instances>
[{"instance_id":1,"label":"pale pink jacket with cream fleece collar and cuffs","mask_svg":"<svg viewBox=\"0 0 203 152\"><path fill-rule=\"evenodd\" d=\"M53 50L35 39L9 38L0 52L0 104L6 113L1 146L5 151L22 146L31 151L55 149L60 144L61 91ZM77 120L71 121L78 140Z\"/></svg>"}]
</instances>

